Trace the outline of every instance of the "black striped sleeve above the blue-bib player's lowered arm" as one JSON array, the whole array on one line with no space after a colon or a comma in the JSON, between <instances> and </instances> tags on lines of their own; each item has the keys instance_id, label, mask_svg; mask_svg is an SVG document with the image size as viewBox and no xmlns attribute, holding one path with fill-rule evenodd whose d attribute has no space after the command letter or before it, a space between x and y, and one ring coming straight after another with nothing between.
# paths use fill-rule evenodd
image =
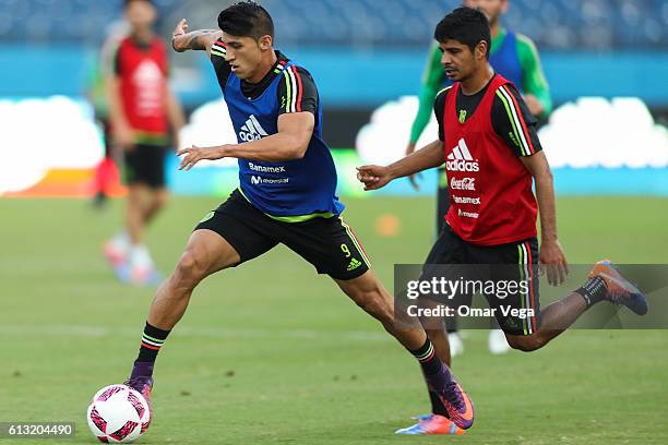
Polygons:
<instances>
[{"instance_id":1,"label":"black striped sleeve above the blue-bib player's lowered arm","mask_svg":"<svg viewBox=\"0 0 668 445\"><path fill-rule=\"evenodd\" d=\"M301 67L289 65L279 75L278 115L308 111L318 116L318 88L311 74Z\"/></svg>"}]
</instances>

